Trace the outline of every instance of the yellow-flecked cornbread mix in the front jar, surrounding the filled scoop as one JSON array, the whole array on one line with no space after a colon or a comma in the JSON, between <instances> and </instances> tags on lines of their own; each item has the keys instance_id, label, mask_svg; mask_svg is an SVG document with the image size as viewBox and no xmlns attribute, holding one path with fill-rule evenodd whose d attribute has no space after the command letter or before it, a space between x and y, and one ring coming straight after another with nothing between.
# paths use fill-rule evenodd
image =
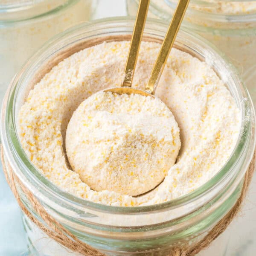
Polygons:
<instances>
[{"instance_id":1,"label":"yellow-flecked cornbread mix in the front jar, surrounding the filled scoop","mask_svg":"<svg viewBox=\"0 0 256 256\"><path fill-rule=\"evenodd\" d=\"M120 86L129 44L102 43L64 59L30 90L19 113L21 144L52 183L80 198L115 206L162 203L203 185L232 154L241 125L239 108L214 70L188 53L172 49L155 95L169 107L180 128L177 162L166 170L159 186L140 197L91 189L83 182L82 172L70 169L67 163L67 125L84 99ZM160 44L142 42L134 87L145 87L159 49Z\"/></svg>"}]
</instances>

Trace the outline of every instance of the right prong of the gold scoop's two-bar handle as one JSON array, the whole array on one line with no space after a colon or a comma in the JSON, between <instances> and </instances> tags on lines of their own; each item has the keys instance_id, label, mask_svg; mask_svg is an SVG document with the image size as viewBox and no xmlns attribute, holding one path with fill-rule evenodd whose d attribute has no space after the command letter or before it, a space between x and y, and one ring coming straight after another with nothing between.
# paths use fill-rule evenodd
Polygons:
<instances>
[{"instance_id":1,"label":"right prong of the gold scoop's two-bar handle","mask_svg":"<svg viewBox=\"0 0 256 256\"><path fill-rule=\"evenodd\" d=\"M172 17L172 21L167 30L162 47L157 55L157 60L154 64L153 70L151 71L148 84L145 87L145 91L147 93L154 95L154 92L163 73L164 66L166 64L169 53L172 49L172 45L175 41L177 32L180 28L180 24L183 20L188 4L189 0L180 0L177 5L175 14Z\"/></svg>"}]
</instances>

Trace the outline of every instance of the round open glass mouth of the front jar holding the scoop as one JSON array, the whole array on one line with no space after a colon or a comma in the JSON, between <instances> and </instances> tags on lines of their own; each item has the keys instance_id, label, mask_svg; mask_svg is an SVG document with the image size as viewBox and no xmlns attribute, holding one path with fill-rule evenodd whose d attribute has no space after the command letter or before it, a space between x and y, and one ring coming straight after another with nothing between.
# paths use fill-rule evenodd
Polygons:
<instances>
[{"instance_id":1,"label":"round open glass mouth of the front jar holding the scoop","mask_svg":"<svg viewBox=\"0 0 256 256\"><path fill-rule=\"evenodd\" d=\"M1 118L1 138L9 163L14 163L13 169L16 175L22 182L28 186L36 187L39 191L43 191L47 198L56 200L66 201L68 204L76 205L76 207L89 207L91 209L99 209L106 212L118 212L118 213L142 213L142 212L154 212L159 210L165 210L166 208L177 208L185 204L191 203L198 198L206 195L212 190L216 189L220 183L224 183L227 180L234 180L239 173L236 171L236 166L239 161L246 158L246 165L248 167L250 160L253 155L253 149L255 147L255 138L250 140L253 125L255 122L255 115L252 104L250 102L250 96L245 89L243 83L239 79L239 76L233 66L225 61L217 50L212 50L212 46L209 47L209 43L203 38L197 35L191 34L186 29L181 29L176 40L176 47L180 47L186 51L191 51L191 54L198 54L202 59L205 59L212 67L215 72L221 76L229 86L231 93L235 97L235 101L242 113L241 130L239 139L236 143L236 147L233 150L227 163L219 170L219 172L212 177L203 186L195 189L193 192L184 195L180 198L176 198L172 201L167 201L161 204L154 204L149 206L141 207L116 207L104 204L94 203L85 199L78 198L67 192L61 190L58 186L51 183L44 175L39 172L35 166L31 163L23 150L19 137L17 135L17 124L16 116L18 111L17 102L21 94L24 94L24 90L27 85L26 79L29 79L29 75L35 73L35 69L42 65L42 61L46 58L50 59L54 53L67 46L71 46L72 42L82 42L86 38L99 38L112 33L114 35L131 35L134 25L134 19L128 17L116 17L95 20L90 24L81 24L75 26L72 29L55 36L48 41L44 46L27 61L20 72L15 76L14 80L10 84L9 90L6 93L3 107L2 107L2 118ZM165 35L165 30L168 24L155 19L149 19L145 26L146 33L148 26L151 26L151 35L160 35L161 38ZM86 30L84 32L84 30ZM104 32L103 32L104 30ZM186 38L186 39L184 39ZM203 48L203 51L200 47ZM214 48L214 47L213 47ZM47 56L45 56L47 53ZM59 60L61 61L61 60ZM23 92L22 92L23 90ZM251 149L251 151L249 151ZM247 169L247 167L245 169Z\"/></svg>"}]
</instances>

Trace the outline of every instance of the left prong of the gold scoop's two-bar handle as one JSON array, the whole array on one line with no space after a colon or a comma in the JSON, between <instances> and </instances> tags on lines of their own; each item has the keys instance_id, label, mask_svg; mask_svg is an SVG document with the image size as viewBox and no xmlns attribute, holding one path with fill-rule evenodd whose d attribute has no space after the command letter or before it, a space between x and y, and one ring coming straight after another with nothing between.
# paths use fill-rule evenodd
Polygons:
<instances>
[{"instance_id":1,"label":"left prong of the gold scoop's two-bar handle","mask_svg":"<svg viewBox=\"0 0 256 256\"><path fill-rule=\"evenodd\" d=\"M131 38L128 58L125 65L125 78L122 86L131 87L134 70L137 63L138 53L140 49L140 42L143 35L143 29L147 18L149 2L150 0L140 0L140 5L134 25L134 31Z\"/></svg>"}]
</instances>

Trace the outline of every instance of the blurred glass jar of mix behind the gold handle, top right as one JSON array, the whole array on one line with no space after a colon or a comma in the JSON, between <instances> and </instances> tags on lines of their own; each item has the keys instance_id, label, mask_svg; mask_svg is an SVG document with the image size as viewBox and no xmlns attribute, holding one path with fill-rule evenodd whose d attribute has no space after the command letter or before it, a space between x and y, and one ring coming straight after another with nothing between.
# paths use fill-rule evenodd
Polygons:
<instances>
[{"instance_id":1,"label":"blurred glass jar of mix behind the gold handle, top right","mask_svg":"<svg viewBox=\"0 0 256 256\"><path fill-rule=\"evenodd\" d=\"M254 6L251 12L235 14L219 11L216 5L220 2L232 5L238 1L191 0L182 25L215 44L230 58L240 75L246 79L247 70L256 64L256 1L247 2ZM129 15L136 15L138 3L138 0L127 0ZM149 16L171 20L176 4L177 0L151 0ZM255 79L254 72L254 79L250 79L246 85L256 104Z\"/></svg>"}]
</instances>

